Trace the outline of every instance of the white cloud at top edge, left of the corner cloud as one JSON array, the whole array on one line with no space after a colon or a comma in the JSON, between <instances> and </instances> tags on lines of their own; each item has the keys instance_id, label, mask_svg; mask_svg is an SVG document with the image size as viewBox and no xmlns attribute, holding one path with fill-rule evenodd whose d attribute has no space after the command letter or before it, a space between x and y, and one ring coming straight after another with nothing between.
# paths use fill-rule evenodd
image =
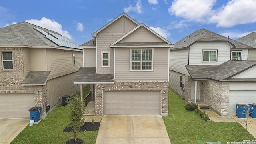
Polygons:
<instances>
[{"instance_id":1,"label":"white cloud at top edge, left of the corner cloud","mask_svg":"<svg viewBox=\"0 0 256 144\"><path fill-rule=\"evenodd\" d=\"M196 22L207 22L216 0L174 0L168 12Z\"/></svg>"}]
</instances>

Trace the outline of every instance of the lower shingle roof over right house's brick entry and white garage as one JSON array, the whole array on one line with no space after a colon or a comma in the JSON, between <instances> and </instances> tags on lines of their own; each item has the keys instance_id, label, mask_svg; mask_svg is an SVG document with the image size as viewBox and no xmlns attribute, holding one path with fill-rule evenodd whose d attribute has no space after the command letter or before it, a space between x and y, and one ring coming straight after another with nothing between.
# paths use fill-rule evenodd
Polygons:
<instances>
[{"instance_id":1,"label":"lower shingle roof over right house's brick entry and white garage","mask_svg":"<svg viewBox=\"0 0 256 144\"><path fill-rule=\"evenodd\" d=\"M256 66L255 60L229 60L220 65L186 65L193 79L213 79L218 81L256 81L256 79L232 79L236 74Z\"/></svg>"}]
</instances>

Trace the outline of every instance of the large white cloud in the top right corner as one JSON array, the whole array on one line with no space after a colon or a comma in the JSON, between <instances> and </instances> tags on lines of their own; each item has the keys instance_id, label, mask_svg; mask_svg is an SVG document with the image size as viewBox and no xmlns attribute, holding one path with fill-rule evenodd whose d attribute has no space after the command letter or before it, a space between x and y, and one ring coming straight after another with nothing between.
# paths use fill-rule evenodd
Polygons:
<instances>
[{"instance_id":1,"label":"large white cloud in the top right corner","mask_svg":"<svg viewBox=\"0 0 256 144\"><path fill-rule=\"evenodd\" d=\"M218 27L256 22L256 0L230 0L216 11L211 22L217 23Z\"/></svg>"}]
</instances>

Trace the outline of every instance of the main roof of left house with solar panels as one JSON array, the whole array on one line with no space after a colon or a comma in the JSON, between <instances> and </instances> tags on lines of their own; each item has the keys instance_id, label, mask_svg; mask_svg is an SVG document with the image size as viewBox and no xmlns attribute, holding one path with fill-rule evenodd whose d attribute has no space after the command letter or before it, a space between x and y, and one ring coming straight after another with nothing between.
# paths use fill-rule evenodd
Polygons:
<instances>
[{"instance_id":1,"label":"main roof of left house with solar panels","mask_svg":"<svg viewBox=\"0 0 256 144\"><path fill-rule=\"evenodd\" d=\"M59 33L28 22L19 22L0 28L0 46L52 47L81 50L81 48L78 48L78 44Z\"/></svg>"}]
</instances>

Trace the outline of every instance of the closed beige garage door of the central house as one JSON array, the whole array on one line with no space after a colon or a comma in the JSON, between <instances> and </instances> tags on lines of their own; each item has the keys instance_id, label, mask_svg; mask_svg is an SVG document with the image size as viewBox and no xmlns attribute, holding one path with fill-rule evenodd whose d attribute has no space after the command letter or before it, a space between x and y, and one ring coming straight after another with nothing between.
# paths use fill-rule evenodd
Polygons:
<instances>
[{"instance_id":1,"label":"closed beige garage door of the central house","mask_svg":"<svg viewBox=\"0 0 256 144\"><path fill-rule=\"evenodd\" d=\"M104 114L160 114L160 91L104 92Z\"/></svg>"}]
</instances>

